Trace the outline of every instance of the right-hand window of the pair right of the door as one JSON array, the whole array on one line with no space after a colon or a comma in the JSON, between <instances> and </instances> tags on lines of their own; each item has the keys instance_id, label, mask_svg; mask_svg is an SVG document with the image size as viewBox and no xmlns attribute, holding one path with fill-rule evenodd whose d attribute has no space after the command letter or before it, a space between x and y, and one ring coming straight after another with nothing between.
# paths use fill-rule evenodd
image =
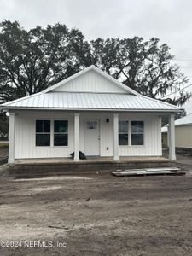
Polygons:
<instances>
[{"instance_id":1,"label":"right-hand window of the pair right of the door","mask_svg":"<svg viewBox=\"0 0 192 256\"><path fill-rule=\"evenodd\" d=\"M143 145L143 121L131 121L131 145Z\"/></svg>"}]
</instances>

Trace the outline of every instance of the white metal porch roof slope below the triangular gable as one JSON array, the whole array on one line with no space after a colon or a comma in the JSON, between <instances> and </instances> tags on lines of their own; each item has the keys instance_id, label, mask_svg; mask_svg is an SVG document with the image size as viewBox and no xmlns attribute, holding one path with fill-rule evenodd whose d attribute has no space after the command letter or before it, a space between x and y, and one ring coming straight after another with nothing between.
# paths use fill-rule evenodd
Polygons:
<instances>
[{"instance_id":1,"label":"white metal porch roof slope below the triangular gable","mask_svg":"<svg viewBox=\"0 0 192 256\"><path fill-rule=\"evenodd\" d=\"M74 109L119 111L179 112L180 108L149 98L131 94L87 92L41 92L4 103L3 109Z\"/></svg>"}]
</instances>

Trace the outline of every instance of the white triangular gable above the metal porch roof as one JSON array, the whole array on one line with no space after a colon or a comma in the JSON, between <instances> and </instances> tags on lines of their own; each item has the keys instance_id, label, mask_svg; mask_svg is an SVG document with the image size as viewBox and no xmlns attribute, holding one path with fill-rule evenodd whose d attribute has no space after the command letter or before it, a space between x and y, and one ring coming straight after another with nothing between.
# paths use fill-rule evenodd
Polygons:
<instances>
[{"instance_id":1,"label":"white triangular gable above the metal porch roof","mask_svg":"<svg viewBox=\"0 0 192 256\"><path fill-rule=\"evenodd\" d=\"M93 92L93 93L125 93L138 95L125 84L113 79L107 73L102 72L95 66L85 68L83 71L74 74L68 79L55 84L46 92Z\"/></svg>"}]
</instances>

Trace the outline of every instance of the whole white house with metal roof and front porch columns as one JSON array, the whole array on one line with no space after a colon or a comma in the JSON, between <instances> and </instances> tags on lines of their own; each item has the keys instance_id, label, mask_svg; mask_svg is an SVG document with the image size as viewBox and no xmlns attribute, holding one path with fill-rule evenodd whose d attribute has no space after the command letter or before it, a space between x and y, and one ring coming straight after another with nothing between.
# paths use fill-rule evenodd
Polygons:
<instances>
[{"instance_id":1,"label":"whole white house with metal roof and front porch columns","mask_svg":"<svg viewBox=\"0 0 192 256\"><path fill-rule=\"evenodd\" d=\"M174 114L180 108L151 99L95 66L40 93L4 103L9 112L9 163L20 159L161 156L161 117L169 115L175 160Z\"/></svg>"}]
</instances>

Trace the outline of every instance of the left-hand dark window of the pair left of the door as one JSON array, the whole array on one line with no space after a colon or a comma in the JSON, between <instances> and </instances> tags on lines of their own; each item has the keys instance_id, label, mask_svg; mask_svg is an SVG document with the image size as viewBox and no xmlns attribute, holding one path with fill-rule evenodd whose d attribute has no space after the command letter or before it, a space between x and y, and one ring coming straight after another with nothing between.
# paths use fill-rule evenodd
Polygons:
<instances>
[{"instance_id":1,"label":"left-hand dark window of the pair left of the door","mask_svg":"<svg viewBox=\"0 0 192 256\"><path fill-rule=\"evenodd\" d=\"M36 146L50 146L50 120L36 120Z\"/></svg>"}]
</instances>

